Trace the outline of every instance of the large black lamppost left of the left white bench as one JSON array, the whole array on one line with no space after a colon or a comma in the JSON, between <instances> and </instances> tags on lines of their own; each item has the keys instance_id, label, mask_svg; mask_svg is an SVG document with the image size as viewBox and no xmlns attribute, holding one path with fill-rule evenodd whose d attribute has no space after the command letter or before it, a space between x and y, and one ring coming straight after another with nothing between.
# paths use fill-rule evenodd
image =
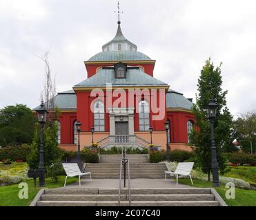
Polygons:
<instances>
[{"instance_id":1,"label":"large black lamppost left of the left white bench","mask_svg":"<svg viewBox=\"0 0 256 220\"><path fill-rule=\"evenodd\" d=\"M35 110L37 112L38 122L40 124L40 150L39 150L39 187L44 187L45 185L45 173L46 169L44 167L44 146L43 146L43 136L44 136L44 125L46 124L48 111L44 108L43 102L39 109Z\"/></svg>"}]
</instances>

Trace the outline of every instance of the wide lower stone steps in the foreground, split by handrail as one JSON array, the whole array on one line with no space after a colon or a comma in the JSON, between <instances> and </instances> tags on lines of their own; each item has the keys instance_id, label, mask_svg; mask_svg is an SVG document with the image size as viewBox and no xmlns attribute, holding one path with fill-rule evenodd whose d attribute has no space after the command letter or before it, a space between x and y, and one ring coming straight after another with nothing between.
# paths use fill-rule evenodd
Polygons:
<instances>
[{"instance_id":1,"label":"wide lower stone steps in the foreground, split by handrail","mask_svg":"<svg viewBox=\"0 0 256 220\"><path fill-rule=\"evenodd\" d=\"M133 188L131 200L132 206L226 206L212 188ZM30 206L118 206L118 189L43 189ZM121 206L128 206L128 189L121 189Z\"/></svg>"}]
</instances>

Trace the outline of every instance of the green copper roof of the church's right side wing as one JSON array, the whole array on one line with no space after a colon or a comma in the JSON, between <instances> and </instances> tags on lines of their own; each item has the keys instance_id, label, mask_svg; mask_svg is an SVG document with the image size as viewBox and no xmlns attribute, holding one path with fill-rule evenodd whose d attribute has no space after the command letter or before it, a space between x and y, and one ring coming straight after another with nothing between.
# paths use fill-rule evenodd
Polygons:
<instances>
[{"instance_id":1,"label":"green copper roof of the church's right side wing","mask_svg":"<svg viewBox=\"0 0 256 220\"><path fill-rule=\"evenodd\" d=\"M193 103L190 102L183 94L169 89L166 94L166 107L172 109L186 109L190 110L193 106Z\"/></svg>"}]
</instances>

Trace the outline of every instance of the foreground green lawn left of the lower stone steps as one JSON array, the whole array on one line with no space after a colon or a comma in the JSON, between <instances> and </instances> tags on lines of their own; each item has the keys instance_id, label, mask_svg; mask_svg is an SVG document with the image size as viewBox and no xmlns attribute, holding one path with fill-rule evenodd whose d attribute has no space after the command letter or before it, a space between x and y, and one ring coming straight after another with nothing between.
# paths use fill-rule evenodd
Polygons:
<instances>
[{"instance_id":1,"label":"foreground green lawn left of the lower stone steps","mask_svg":"<svg viewBox=\"0 0 256 220\"><path fill-rule=\"evenodd\" d=\"M51 179L46 179L46 188L57 188L62 187L64 184L65 177L59 177L58 182L53 182ZM69 177L67 184L75 183L78 181L77 177ZM26 181L28 183L28 199L19 199L19 184L12 186L1 186L0 187L0 206L29 206L31 201L37 195L37 192L41 188L34 187L34 180L29 179ZM37 179L38 185L38 179Z\"/></svg>"}]
</instances>

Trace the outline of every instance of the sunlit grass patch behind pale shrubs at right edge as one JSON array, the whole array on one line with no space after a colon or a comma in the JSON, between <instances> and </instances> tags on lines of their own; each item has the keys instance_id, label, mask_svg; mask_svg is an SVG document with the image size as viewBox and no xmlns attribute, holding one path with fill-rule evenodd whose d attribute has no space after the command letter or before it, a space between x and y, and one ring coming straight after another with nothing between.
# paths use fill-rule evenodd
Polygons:
<instances>
[{"instance_id":1,"label":"sunlit grass patch behind pale shrubs at right edge","mask_svg":"<svg viewBox=\"0 0 256 220\"><path fill-rule=\"evenodd\" d=\"M244 179L250 185L256 186L256 166L230 166L225 177Z\"/></svg>"}]
</instances>

